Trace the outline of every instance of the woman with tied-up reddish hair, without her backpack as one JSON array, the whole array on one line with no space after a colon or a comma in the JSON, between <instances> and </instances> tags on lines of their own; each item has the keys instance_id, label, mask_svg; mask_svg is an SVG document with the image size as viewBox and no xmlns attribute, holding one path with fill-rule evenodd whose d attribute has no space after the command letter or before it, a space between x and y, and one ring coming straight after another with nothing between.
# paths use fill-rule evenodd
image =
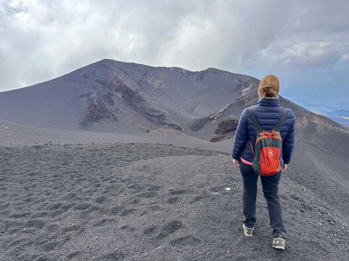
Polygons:
<instances>
[{"instance_id":1,"label":"woman with tied-up reddish hair, without her backpack","mask_svg":"<svg viewBox=\"0 0 349 261\"><path fill-rule=\"evenodd\" d=\"M259 100L257 105L253 105L252 111L257 118L258 123L264 130L270 130L280 119L283 108L279 103L279 79L268 74L264 77L258 87ZM285 171L287 164L291 160L295 144L295 114L291 109L287 109L287 117L280 130L282 138L283 167L279 173L272 176L261 176L263 194L267 201L270 226L273 228L273 247L285 249L285 238L287 238L285 226L283 223L283 213L281 208L280 197L277 193L281 172ZM256 129L253 126L248 109L245 108L241 114L236 134L233 142L232 157L234 165L240 167L243 177L244 194L243 207L244 216L243 229L246 236L253 235L254 224L256 222L256 197L257 197L257 180L258 175L252 168L252 149L255 151Z\"/></svg>"}]
</instances>

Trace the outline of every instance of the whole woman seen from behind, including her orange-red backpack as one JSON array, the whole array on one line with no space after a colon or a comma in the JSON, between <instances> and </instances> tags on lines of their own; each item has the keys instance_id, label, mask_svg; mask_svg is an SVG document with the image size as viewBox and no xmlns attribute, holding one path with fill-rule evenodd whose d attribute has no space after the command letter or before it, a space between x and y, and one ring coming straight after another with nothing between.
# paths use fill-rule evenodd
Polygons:
<instances>
[{"instance_id":1,"label":"whole woman seen from behind, including her orange-red backpack","mask_svg":"<svg viewBox=\"0 0 349 261\"><path fill-rule=\"evenodd\" d=\"M257 105L250 107L252 109L250 112L248 108L245 108L241 114L233 142L232 158L234 159L234 165L240 167L240 172L243 177L243 212L245 216L243 220L243 229L245 235L252 236L256 222L255 211L259 174L261 176L263 194L267 201L270 226L273 228L273 247L284 249L287 233L283 223L283 213L278 187L281 172L286 170L293 153L296 123L294 112L291 109L283 109L280 106L279 90L279 79L272 74L265 76L260 81L258 87L259 100ZM283 118L280 119L282 115ZM279 122L279 124L277 124L277 122ZM259 128L257 144L257 129L255 126ZM263 132L263 130L265 132ZM280 133L276 132L277 130L279 130ZM267 147L274 143L280 147L281 157L280 149L278 150L275 148L275 145L273 145L273 147ZM254 158L254 155L257 156ZM271 162L274 162L274 165L268 166ZM275 162L277 164L275 164ZM271 172L271 169L274 169L274 172ZM268 171L271 175L268 175ZM275 173L276 171L279 172Z\"/></svg>"}]
</instances>

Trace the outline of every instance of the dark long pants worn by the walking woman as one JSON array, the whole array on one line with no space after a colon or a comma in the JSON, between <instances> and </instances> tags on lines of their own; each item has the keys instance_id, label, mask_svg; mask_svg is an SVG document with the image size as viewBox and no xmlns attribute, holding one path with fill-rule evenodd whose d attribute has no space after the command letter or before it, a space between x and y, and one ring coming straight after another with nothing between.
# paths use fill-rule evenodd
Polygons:
<instances>
[{"instance_id":1,"label":"dark long pants worn by the walking woman","mask_svg":"<svg viewBox=\"0 0 349 261\"><path fill-rule=\"evenodd\" d=\"M254 226L256 222L256 198L258 175L254 172L252 165L248 165L239 160L240 172L244 182L244 216L245 226ZM273 237L282 235L287 238L285 226L283 224L283 213L279 194L279 180L281 171L272 176L260 176L263 186L263 194L267 201L270 226L273 228Z\"/></svg>"}]
</instances>

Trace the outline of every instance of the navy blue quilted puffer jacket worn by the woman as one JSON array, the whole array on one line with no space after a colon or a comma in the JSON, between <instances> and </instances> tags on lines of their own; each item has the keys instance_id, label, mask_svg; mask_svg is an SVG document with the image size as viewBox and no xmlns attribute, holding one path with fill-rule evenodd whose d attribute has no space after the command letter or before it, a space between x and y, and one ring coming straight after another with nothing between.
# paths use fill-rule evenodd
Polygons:
<instances>
[{"instance_id":1,"label":"navy blue quilted puffer jacket worn by the woman","mask_svg":"<svg viewBox=\"0 0 349 261\"><path fill-rule=\"evenodd\" d=\"M257 105L253 105L251 108L258 123L264 130L273 129L276 122L281 118L283 111L277 98L259 98ZM295 128L295 114L291 109L287 109L287 117L280 130L282 139L281 157L284 164L288 164L291 161L295 145ZM253 156L249 140L251 140L253 151L255 151L256 136L257 132L253 126L250 114L248 114L248 108L245 108L241 113L235 133L231 155L233 159L241 157L244 160L252 162Z\"/></svg>"}]
</instances>

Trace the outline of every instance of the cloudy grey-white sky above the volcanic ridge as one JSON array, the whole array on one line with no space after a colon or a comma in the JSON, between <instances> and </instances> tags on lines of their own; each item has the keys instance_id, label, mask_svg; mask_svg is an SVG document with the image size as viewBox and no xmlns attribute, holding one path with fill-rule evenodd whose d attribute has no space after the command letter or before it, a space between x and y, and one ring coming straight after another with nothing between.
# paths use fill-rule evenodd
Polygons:
<instances>
[{"instance_id":1,"label":"cloudy grey-white sky above the volcanic ridge","mask_svg":"<svg viewBox=\"0 0 349 261\"><path fill-rule=\"evenodd\" d=\"M0 91L103 58L349 85L347 0L0 2Z\"/></svg>"}]
</instances>

